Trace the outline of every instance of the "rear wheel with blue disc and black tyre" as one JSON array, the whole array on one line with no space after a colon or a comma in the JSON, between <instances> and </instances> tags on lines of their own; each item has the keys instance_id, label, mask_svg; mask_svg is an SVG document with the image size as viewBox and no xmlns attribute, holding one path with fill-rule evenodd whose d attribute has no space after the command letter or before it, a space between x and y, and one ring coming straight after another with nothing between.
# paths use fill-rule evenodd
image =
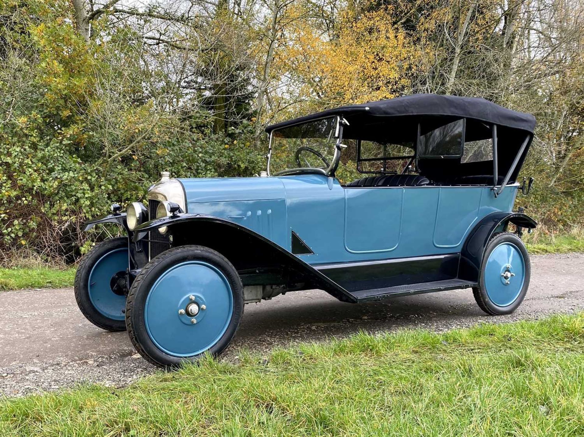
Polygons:
<instances>
[{"instance_id":1,"label":"rear wheel with blue disc and black tyre","mask_svg":"<svg viewBox=\"0 0 584 437\"><path fill-rule=\"evenodd\" d=\"M486 245L478 287L473 287L472 294L485 313L510 314L522 303L530 276L529 254L523 241L516 234L495 234Z\"/></svg>"}]
</instances>

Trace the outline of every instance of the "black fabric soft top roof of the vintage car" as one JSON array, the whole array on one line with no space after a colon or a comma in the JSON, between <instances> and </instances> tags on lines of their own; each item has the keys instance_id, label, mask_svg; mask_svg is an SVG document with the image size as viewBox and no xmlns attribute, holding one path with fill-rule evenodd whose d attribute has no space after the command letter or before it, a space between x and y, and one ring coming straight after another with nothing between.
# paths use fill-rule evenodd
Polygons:
<instances>
[{"instance_id":1,"label":"black fabric soft top roof of the vintage car","mask_svg":"<svg viewBox=\"0 0 584 437\"><path fill-rule=\"evenodd\" d=\"M274 129L292 126L334 115L343 115L351 122L350 116L356 116L357 123L353 124L352 131L359 130L360 125L380 121L377 117L406 117L408 121L419 117L464 117L478 122L497 124L511 129L520 129L533 134L536 119L531 114L517 112L496 103L475 97L443 96L437 94L414 94L395 99L379 100L378 102L364 103L363 105L341 106L315 114L287 120L266 127L270 133ZM405 120L401 120L405 121ZM401 123L401 122L400 122ZM402 125L401 125L402 126Z\"/></svg>"}]
</instances>

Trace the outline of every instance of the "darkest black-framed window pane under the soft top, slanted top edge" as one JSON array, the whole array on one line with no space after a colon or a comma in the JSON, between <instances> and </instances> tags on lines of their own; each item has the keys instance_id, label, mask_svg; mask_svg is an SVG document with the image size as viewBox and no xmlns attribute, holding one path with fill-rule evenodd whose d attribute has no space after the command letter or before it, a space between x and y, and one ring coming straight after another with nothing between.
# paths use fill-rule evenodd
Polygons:
<instances>
[{"instance_id":1,"label":"darkest black-framed window pane under the soft top, slanted top edge","mask_svg":"<svg viewBox=\"0 0 584 437\"><path fill-rule=\"evenodd\" d=\"M456 120L420 135L420 158L460 157L463 153L464 122L464 119Z\"/></svg>"}]
</instances>

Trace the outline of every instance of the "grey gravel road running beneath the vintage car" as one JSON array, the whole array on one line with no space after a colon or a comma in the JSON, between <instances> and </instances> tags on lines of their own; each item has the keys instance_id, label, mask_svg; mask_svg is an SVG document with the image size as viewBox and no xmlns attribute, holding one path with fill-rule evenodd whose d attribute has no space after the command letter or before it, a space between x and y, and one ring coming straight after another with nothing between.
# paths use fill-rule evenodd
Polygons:
<instances>
[{"instance_id":1,"label":"grey gravel road running beneath the vintage car","mask_svg":"<svg viewBox=\"0 0 584 437\"><path fill-rule=\"evenodd\" d=\"M584 254L531 257L531 285L522 306L490 317L470 290L346 304L325 292L288 293L245 307L223 359L239 348L267 353L273 346L346 337L360 330L426 328L444 331L480 322L534 319L584 308ZM72 289L0 292L0 395L23 396L79 383L121 387L160 372L135 354L126 332L106 332L79 312Z\"/></svg>"}]
</instances>

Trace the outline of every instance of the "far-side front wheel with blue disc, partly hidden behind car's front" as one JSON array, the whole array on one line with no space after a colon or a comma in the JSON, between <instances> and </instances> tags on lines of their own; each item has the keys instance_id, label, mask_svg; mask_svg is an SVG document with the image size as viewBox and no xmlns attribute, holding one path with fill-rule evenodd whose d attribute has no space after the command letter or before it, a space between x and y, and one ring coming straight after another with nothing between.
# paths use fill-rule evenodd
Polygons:
<instances>
[{"instance_id":1,"label":"far-side front wheel with blue disc, partly hidden behind car's front","mask_svg":"<svg viewBox=\"0 0 584 437\"><path fill-rule=\"evenodd\" d=\"M116 283L127 268L127 237L111 238L95 245L77 268L77 305L87 320L103 330L126 330L126 296Z\"/></svg>"}]
</instances>

